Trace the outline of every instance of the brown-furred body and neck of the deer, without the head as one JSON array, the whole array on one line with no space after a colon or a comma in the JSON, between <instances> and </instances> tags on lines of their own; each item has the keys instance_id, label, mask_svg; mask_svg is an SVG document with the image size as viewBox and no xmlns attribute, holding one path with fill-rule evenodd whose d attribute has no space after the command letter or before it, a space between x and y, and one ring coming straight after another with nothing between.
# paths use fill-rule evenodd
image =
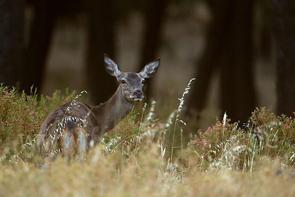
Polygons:
<instances>
[{"instance_id":1,"label":"brown-furred body and neck of the deer, without the head","mask_svg":"<svg viewBox=\"0 0 295 197\"><path fill-rule=\"evenodd\" d=\"M133 103L126 99L122 99L121 85L113 95L113 97L107 102L98 106L90 107L83 102L75 102L75 105L70 107L67 112L67 107L71 102L66 102L56 109L54 109L41 125L38 135L38 148L43 157L48 156L51 151L55 151L62 148L63 155L71 158L72 155L76 155L79 149L89 149L89 143L92 140L93 145L100 142L102 135L113 129L132 109ZM62 122L62 118L75 117L74 121L64 121L65 127L58 127L58 123ZM72 119L72 118L71 118ZM82 120L85 120L83 123ZM76 124L81 124L78 126ZM56 140L52 145L54 132L57 132ZM82 136L79 135L80 132ZM50 136L51 135L51 136ZM59 139L57 138L59 137ZM79 142L81 137L86 139L86 144L81 147ZM70 147L66 147L66 142L69 142Z\"/></svg>"}]
</instances>

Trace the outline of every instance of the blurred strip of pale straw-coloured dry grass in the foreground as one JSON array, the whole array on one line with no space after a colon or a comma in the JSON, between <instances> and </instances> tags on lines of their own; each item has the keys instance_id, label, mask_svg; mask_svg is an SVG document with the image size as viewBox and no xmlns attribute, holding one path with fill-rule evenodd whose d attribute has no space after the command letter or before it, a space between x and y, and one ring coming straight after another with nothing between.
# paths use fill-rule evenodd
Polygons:
<instances>
[{"instance_id":1,"label":"blurred strip of pale straw-coloured dry grass in the foreground","mask_svg":"<svg viewBox=\"0 0 295 197\"><path fill-rule=\"evenodd\" d=\"M294 179L278 171L278 163L265 160L255 173L190 169L183 179L161 170L156 144L138 155L136 166L120 165L120 155L107 159L99 147L84 164L65 164L62 158L40 170L32 164L0 166L0 196L230 196L293 197ZM167 171L166 171L167 172Z\"/></svg>"}]
</instances>

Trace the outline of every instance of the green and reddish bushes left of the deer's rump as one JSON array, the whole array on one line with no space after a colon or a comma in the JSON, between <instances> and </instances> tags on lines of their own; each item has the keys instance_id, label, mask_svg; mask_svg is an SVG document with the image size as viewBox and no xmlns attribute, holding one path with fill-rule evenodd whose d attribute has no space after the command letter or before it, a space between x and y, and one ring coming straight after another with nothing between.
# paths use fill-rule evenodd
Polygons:
<instances>
[{"instance_id":1,"label":"green and reddish bushes left of the deer's rump","mask_svg":"<svg viewBox=\"0 0 295 197\"><path fill-rule=\"evenodd\" d=\"M42 121L50 111L63 102L75 98L75 91L65 96L56 91L52 97L41 95L37 99L36 89L30 95L17 93L15 88L0 84L0 162L40 163L36 136Z\"/></svg>"}]
</instances>

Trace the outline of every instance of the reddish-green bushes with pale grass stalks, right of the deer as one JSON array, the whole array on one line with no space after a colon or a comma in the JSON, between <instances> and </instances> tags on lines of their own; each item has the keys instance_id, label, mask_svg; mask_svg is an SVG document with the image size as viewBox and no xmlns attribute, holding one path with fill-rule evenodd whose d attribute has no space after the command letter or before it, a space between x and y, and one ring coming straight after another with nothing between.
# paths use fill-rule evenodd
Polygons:
<instances>
[{"instance_id":1,"label":"reddish-green bushes with pale grass stalks, right of the deer","mask_svg":"<svg viewBox=\"0 0 295 197\"><path fill-rule=\"evenodd\" d=\"M240 127L230 119L217 120L207 131L198 131L188 143L199 158L200 168L253 170L263 158L278 159L293 170L295 161L295 119L275 116L266 108L256 108L247 124Z\"/></svg>"}]
</instances>

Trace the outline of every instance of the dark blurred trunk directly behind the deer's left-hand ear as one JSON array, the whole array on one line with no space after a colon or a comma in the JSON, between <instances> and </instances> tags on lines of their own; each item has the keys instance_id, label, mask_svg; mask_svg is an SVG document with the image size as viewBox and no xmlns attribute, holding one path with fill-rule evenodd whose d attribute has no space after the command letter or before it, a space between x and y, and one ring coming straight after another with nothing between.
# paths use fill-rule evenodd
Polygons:
<instances>
[{"instance_id":1,"label":"dark blurred trunk directly behind the deer's left-hand ear","mask_svg":"<svg viewBox=\"0 0 295 197\"><path fill-rule=\"evenodd\" d=\"M89 1L89 37L87 54L87 82L93 103L109 99L116 91L115 77L104 68L103 55L115 55L114 0Z\"/></svg>"}]
</instances>

